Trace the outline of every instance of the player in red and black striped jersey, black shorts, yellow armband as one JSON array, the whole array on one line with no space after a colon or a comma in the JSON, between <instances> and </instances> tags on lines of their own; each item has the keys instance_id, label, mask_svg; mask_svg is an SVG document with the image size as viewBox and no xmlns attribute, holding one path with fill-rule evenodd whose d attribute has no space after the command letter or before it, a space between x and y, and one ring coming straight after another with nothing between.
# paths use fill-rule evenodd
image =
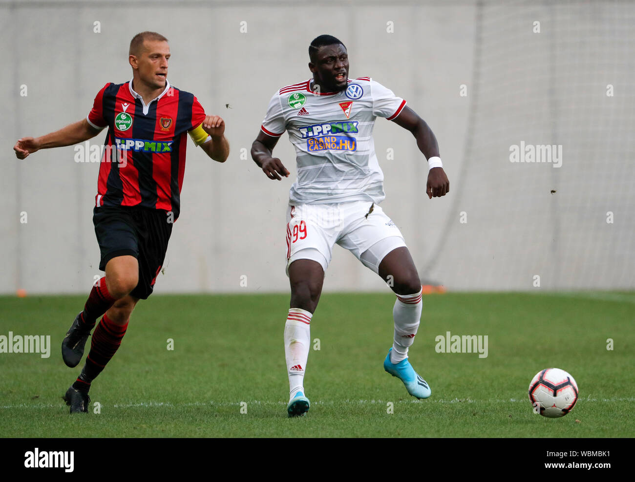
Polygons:
<instances>
[{"instance_id":1,"label":"player in red and black striped jersey, black shorts, yellow armband","mask_svg":"<svg viewBox=\"0 0 635 482\"><path fill-rule=\"evenodd\" d=\"M206 116L194 95L170 86L169 58L164 36L137 34L130 43L130 82L106 84L86 119L43 137L20 138L13 147L24 159L39 149L83 142L108 127L93 210L105 276L62 342L66 365L77 366L103 316L86 364L64 395L70 413L88 412L91 382L119 348L138 300L152 293L180 211L186 133L211 159L223 163L229 156L223 119Z\"/></svg>"}]
</instances>

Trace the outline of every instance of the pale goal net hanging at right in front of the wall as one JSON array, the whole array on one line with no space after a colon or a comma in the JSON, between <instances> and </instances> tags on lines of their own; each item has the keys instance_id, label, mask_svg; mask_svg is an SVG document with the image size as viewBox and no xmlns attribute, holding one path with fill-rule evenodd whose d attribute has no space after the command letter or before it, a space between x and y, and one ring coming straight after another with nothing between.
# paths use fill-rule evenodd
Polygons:
<instances>
[{"instance_id":1,"label":"pale goal net hanging at right in front of the wall","mask_svg":"<svg viewBox=\"0 0 635 482\"><path fill-rule=\"evenodd\" d=\"M477 11L465 157L422 271L443 280L444 267L461 267L458 289L526 290L536 276L544 288L632 288L635 5ZM535 162L551 149L561 156Z\"/></svg>"}]
</instances>

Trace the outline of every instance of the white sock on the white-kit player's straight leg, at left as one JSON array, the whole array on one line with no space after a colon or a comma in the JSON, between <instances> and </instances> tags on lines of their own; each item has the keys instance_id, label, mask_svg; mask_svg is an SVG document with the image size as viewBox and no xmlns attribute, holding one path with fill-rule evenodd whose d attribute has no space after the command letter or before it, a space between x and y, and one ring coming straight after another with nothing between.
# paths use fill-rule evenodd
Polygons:
<instances>
[{"instance_id":1,"label":"white sock on the white-kit player's straight leg, at left","mask_svg":"<svg viewBox=\"0 0 635 482\"><path fill-rule=\"evenodd\" d=\"M301 308L291 308L284 325L284 358L289 376L289 399L304 393L304 370L311 347L311 317Z\"/></svg>"}]
</instances>

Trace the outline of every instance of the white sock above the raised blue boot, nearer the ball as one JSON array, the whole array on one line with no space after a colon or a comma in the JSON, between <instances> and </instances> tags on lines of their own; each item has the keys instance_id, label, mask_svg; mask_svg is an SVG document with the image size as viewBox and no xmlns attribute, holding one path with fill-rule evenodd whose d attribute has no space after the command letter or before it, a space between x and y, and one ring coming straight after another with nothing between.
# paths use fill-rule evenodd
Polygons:
<instances>
[{"instance_id":1,"label":"white sock above the raised blue boot, nearer the ball","mask_svg":"<svg viewBox=\"0 0 635 482\"><path fill-rule=\"evenodd\" d=\"M392 318L395 322L394 341L392 342L391 363L399 363L408 358L408 347L415 340L421 311L424 302L422 291L414 295L397 295L392 308Z\"/></svg>"}]
</instances>

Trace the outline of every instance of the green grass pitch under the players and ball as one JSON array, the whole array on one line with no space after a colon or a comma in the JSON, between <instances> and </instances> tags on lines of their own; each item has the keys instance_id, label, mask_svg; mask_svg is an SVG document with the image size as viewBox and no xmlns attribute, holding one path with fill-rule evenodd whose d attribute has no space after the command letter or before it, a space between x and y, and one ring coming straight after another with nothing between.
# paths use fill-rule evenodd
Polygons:
<instances>
[{"instance_id":1,"label":"green grass pitch under the players and ball","mask_svg":"<svg viewBox=\"0 0 635 482\"><path fill-rule=\"evenodd\" d=\"M61 397L83 361L67 368L60 344L84 300L0 297L0 335L51 336L50 358L0 354L0 436L635 435L635 293L425 296L410 350L432 388L422 401L382 366L394 296L324 293L311 324L319 350L311 350L305 377L311 410L293 419L286 417L282 338L288 295L154 295L140 302L119 352L93 382L90 413L70 417ZM488 335L488 357L436 352L434 338L446 331ZM580 389L563 418L540 417L528 401L531 378L549 367L572 373Z\"/></svg>"}]
</instances>

